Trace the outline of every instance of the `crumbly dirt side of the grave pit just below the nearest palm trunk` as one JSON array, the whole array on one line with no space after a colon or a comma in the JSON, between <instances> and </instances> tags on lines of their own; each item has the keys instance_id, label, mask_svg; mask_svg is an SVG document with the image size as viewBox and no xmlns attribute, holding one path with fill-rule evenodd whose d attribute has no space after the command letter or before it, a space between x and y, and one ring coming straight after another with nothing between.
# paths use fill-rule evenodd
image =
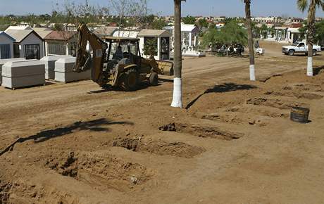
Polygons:
<instances>
[{"instance_id":1,"label":"crumbly dirt side of the grave pit just below the nearest palm trunk","mask_svg":"<svg viewBox=\"0 0 324 204\"><path fill-rule=\"evenodd\" d=\"M201 125L178 124L177 132L185 132L199 137L208 137L213 139L232 140L244 136L242 133L229 132L216 127L203 127Z\"/></svg>"}]
</instances>

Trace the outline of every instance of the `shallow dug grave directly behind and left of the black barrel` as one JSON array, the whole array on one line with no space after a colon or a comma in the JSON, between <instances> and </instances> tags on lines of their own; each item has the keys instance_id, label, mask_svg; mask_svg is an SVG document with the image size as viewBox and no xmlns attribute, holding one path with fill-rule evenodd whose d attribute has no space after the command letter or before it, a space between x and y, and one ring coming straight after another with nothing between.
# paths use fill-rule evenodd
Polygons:
<instances>
[{"instance_id":1,"label":"shallow dug grave directly behind and left of the black barrel","mask_svg":"<svg viewBox=\"0 0 324 204\"><path fill-rule=\"evenodd\" d=\"M268 106L279 109L290 109L296 106L308 107L306 103L283 101L278 98L249 98L247 104L256 106Z\"/></svg>"}]
</instances>

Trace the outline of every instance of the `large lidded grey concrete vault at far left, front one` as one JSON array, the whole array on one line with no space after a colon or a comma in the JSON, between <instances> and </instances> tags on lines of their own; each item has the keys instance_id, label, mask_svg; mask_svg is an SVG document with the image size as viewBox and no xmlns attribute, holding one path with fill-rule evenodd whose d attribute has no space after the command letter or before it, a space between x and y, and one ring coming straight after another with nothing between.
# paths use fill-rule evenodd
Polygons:
<instances>
[{"instance_id":1,"label":"large lidded grey concrete vault at far left, front one","mask_svg":"<svg viewBox=\"0 0 324 204\"><path fill-rule=\"evenodd\" d=\"M45 65L39 60L8 62L2 66L2 86L10 89L45 84Z\"/></svg>"}]
</instances>

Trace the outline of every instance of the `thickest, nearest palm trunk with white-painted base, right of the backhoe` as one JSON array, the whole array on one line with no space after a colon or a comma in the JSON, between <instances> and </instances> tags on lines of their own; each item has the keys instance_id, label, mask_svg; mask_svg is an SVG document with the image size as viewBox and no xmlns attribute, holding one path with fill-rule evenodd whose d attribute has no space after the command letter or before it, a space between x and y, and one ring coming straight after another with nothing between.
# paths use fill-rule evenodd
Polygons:
<instances>
[{"instance_id":1,"label":"thickest, nearest palm trunk with white-painted base, right of the backhoe","mask_svg":"<svg viewBox=\"0 0 324 204\"><path fill-rule=\"evenodd\" d=\"M174 42L174 81L173 81L173 101L172 107L182 108L182 53L181 53L181 1L174 0L175 3L175 42Z\"/></svg>"}]
</instances>

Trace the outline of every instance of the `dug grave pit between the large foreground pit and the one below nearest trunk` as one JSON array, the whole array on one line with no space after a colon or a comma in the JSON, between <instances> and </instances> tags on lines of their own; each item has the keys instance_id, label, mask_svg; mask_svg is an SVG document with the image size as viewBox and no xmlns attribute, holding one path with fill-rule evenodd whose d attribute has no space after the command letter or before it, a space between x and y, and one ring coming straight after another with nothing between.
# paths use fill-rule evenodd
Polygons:
<instances>
[{"instance_id":1,"label":"dug grave pit between the large foreground pit and the one below nearest trunk","mask_svg":"<svg viewBox=\"0 0 324 204\"><path fill-rule=\"evenodd\" d=\"M183 142L142 141L142 139L114 139L112 146L120 146L130 151L154 153L157 155L173 155L183 158L193 158L205 151L204 148L191 146Z\"/></svg>"}]
</instances>

